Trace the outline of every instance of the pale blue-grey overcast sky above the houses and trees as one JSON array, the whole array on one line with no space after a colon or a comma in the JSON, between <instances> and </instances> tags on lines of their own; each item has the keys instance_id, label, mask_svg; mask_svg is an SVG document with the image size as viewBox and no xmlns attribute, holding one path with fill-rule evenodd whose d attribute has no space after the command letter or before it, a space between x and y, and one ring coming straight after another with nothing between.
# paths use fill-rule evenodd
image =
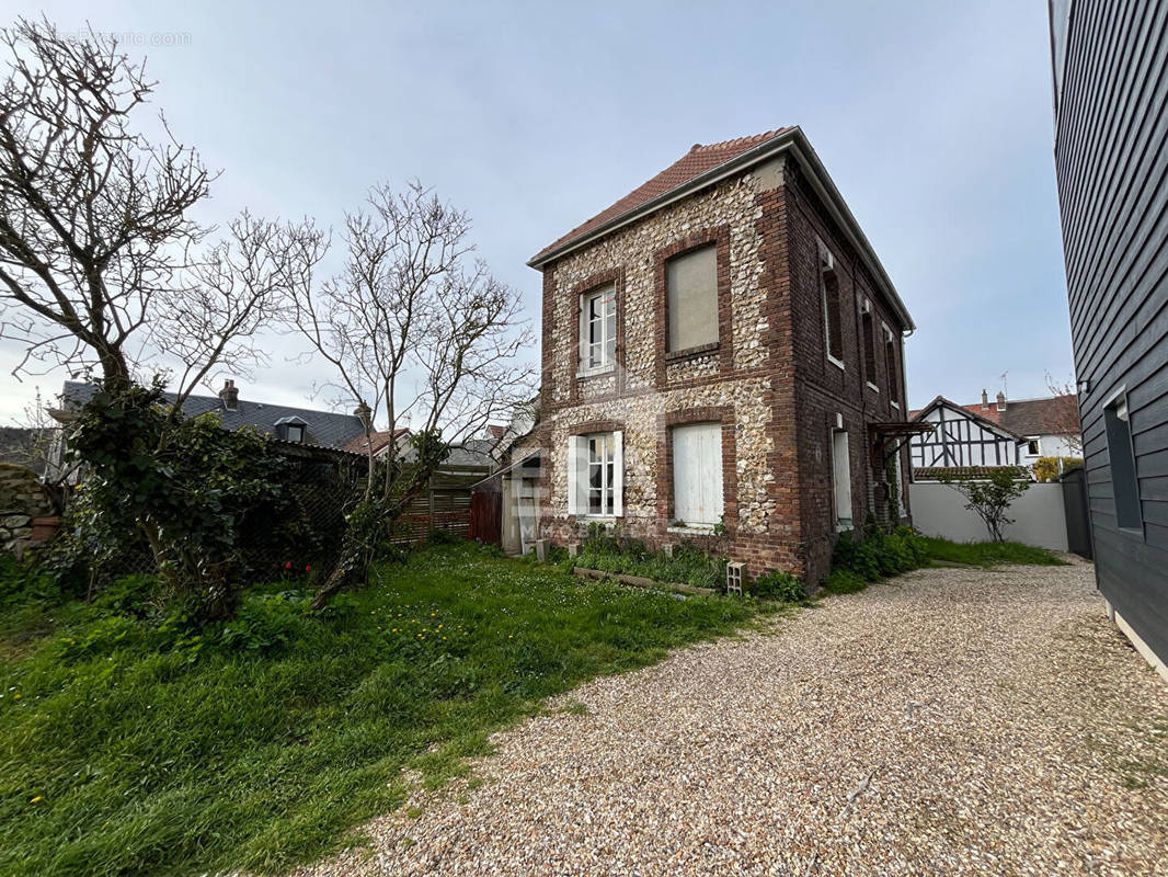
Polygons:
<instances>
[{"instance_id":1,"label":"pale blue-grey overcast sky above the houses and trees","mask_svg":"<svg viewBox=\"0 0 1168 877\"><path fill-rule=\"evenodd\" d=\"M148 57L155 103L223 170L213 219L336 227L373 182L418 178L470 212L533 320L544 244L694 143L799 124L918 325L912 406L1071 378L1041 0L42 8ZM270 347L242 395L307 403L327 372ZM0 422L63 377L16 382L16 358L0 346Z\"/></svg>"}]
</instances>

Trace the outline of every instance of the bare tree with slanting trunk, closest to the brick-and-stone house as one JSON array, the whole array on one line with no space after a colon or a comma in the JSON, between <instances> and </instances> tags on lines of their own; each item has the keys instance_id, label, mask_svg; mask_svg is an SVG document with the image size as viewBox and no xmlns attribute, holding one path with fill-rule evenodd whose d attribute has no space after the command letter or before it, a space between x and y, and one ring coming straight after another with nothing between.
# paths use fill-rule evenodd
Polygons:
<instances>
[{"instance_id":1,"label":"bare tree with slanting trunk, closest to the brick-and-stone house","mask_svg":"<svg viewBox=\"0 0 1168 877\"><path fill-rule=\"evenodd\" d=\"M334 387L366 407L367 437L384 415L385 457L368 449L368 479L342 557L318 593L324 605L363 578L387 525L429 483L450 446L530 395L520 362L531 332L519 297L473 258L467 215L420 184L370 191L346 216L341 272L300 296L296 324L333 367ZM409 422L410 460L392 435Z\"/></svg>"}]
</instances>

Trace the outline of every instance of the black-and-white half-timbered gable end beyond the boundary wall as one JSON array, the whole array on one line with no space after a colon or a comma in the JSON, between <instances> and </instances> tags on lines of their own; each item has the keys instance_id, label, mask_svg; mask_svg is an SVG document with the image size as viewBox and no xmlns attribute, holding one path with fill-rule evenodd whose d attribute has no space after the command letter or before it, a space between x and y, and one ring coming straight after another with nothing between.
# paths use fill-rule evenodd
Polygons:
<instances>
[{"instance_id":1,"label":"black-and-white half-timbered gable end beyond the boundary wall","mask_svg":"<svg viewBox=\"0 0 1168 877\"><path fill-rule=\"evenodd\" d=\"M909 457L915 471L934 468L1017 465L1021 436L975 412L971 406L937 396L911 420L931 423L933 430L915 435Z\"/></svg>"}]
</instances>

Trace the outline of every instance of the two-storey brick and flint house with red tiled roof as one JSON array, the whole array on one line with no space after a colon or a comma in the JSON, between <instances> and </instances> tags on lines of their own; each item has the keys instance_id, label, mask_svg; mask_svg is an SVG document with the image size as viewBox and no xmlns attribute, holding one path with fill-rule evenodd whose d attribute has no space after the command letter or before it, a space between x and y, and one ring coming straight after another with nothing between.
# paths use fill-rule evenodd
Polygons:
<instances>
[{"instance_id":1,"label":"two-storey brick and flint house with red tiled roof","mask_svg":"<svg viewBox=\"0 0 1168 877\"><path fill-rule=\"evenodd\" d=\"M799 127L695 145L528 264L540 538L613 525L816 582L841 531L908 516L915 326Z\"/></svg>"}]
</instances>

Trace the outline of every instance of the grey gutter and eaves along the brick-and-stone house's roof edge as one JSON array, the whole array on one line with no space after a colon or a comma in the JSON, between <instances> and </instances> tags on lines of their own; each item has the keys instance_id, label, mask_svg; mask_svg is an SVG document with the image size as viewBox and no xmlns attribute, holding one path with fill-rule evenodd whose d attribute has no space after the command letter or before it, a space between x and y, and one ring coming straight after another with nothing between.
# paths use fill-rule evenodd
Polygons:
<instances>
[{"instance_id":1,"label":"grey gutter and eaves along the brick-and-stone house's roof edge","mask_svg":"<svg viewBox=\"0 0 1168 877\"><path fill-rule=\"evenodd\" d=\"M639 205L631 210L626 210L619 216L613 216L607 222L597 226L591 232L588 232L579 237L568 241L559 247L548 250L547 253L536 255L527 264L530 268L542 270L543 265L549 262L562 258L570 253L575 253L593 241L611 234L618 228L631 225L632 222L635 222L642 216L654 213L662 207L666 207L675 201L680 201L683 198L688 198L698 189L705 188L715 182L719 182L728 177L732 177L750 165L759 164L769 158L774 158L786 152L790 152L791 156L807 171L807 179L815 194L819 195L820 200L827 207L832 219L835 220L840 228L842 228L849 236L851 243L860 253L860 257L863 261L864 267L871 272L872 277L876 278L876 283L888 297L889 303L892 305L897 316L901 317L901 320L904 323L908 331L910 333L916 331L917 324L912 322L909 309L897 294L896 286L892 285L892 281L884 270L884 265L881 264L871 243L860 228L860 223L856 222L856 217L851 215L851 210L848 209L848 205L844 202L843 196L840 194L840 191L835 187L830 175L827 173L827 168L823 167L823 163L819 160L819 156L815 154L815 150L812 149L806 134L804 134L802 129L798 125L784 131L780 134L776 134L770 140L760 143L758 146L735 156L728 161L723 161L716 167L711 167L705 173L698 174L694 179L677 186L676 188L669 189L656 198L649 199L645 203Z\"/></svg>"}]
</instances>

